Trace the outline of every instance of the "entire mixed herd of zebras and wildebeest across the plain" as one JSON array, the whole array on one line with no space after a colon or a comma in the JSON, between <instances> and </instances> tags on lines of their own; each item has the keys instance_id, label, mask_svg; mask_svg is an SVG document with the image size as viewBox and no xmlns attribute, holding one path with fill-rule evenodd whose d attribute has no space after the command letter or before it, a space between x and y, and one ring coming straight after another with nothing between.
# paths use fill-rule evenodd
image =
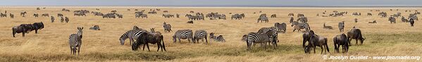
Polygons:
<instances>
[{"instance_id":1,"label":"entire mixed herd of zebras and wildebeest across the plain","mask_svg":"<svg viewBox=\"0 0 422 62\"><path fill-rule=\"evenodd\" d=\"M37 8L37 10L41 10L41 9ZM99 8L97 8L96 10L99 11ZM70 10L63 8L61 11L68 12ZM128 11L130 11L130 9L128 9ZM135 11L136 11L135 18L139 18L139 17L147 18L147 14L154 15L157 13L157 11L161 11L161 9L158 9L158 8L150 9L148 13L144 13L145 10L138 11L137 9L135 9ZM20 15L22 17L25 17L25 13L27 12L23 11L20 13ZM117 11L111 11L111 13L103 14L103 13L94 12L94 11L89 12L87 10L77 10L77 11L74 11L74 16L87 16L86 15L87 13L92 13L93 16L102 16L102 18L116 18L116 17L123 18L123 15L117 13ZM176 13L175 15L169 14L168 11L163 11L163 13L166 13L162 15L164 18L174 18L175 16L179 18L180 16L178 13ZM190 11L190 13L194 13L194 11ZM259 13L261 13L261 11L259 11ZM347 11L345 12L333 11L333 14L329 14L328 16L325 16L325 13L326 11L324 11L321 15L318 13L317 16L341 17L347 14ZM229 13L229 14L232 14L232 13ZM388 18L388 21L390 21L390 23L396 23L395 18L399 18L399 16L401 16L400 14L401 13L392 15L390 18ZM410 14L408 18L409 20L407 18L404 18L404 16L402 16L402 21L404 23L410 23L411 27L413 27L414 20L418 20L416 16L418 14L420 13L417 11L415 13ZM0 16L2 15L6 15L6 14L0 13ZM10 13L10 15L13 18L13 14ZM38 14L34 13L33 16L38 17ZM49 14L44 13L42 14L42 16L49 17ZM321 54L323 54L323 51L325 52L330 51L327 44L328 37L317 35L314 32L314 30L311 30L311 26L309 26L310 24L307 23L308 19L306 18L306 16L304 16L304 14L297 13L297 20L294 20L293 18L294 13L289 13L287 14L287 16L290 16L289 23L291 24L291 27L294 28L292 29L292 31L295 32L297 30L297 32L303 32L302 47L306 54L309 54L312 49L314 50L314 53L316 53L315 50L317 46L321 48ZM352 16L361 16L361 13L355 12L355 13L352 13ZM372 16L372 14L368 13L367 16ZM380 12L378 16L385 18L387 16L387 13ZM66 21L66 23L68 23L69 21L69 18L63 16L63 14L61 13L58 13L57 17L61 18L62 23L63 21ZM193 20L205 20L206 18L209 18L209 20L215 20L215 19L226 20L226 15L223 13L208 13L205 16L203 13L196 13L194 15L186 14L185 17L188 18L188 20L190 20L187 23L193 23ZM231 19L241 20L244 17L245 17L244 13L235 13L232 15ZM271 18L277 18L276 14L272 14ZM55 20L54 16L51 16L51 23L54 23L54 20ZM258 17L257 23L260 23L259 21L261 21L261 23L263 22L268 23L269 19L267 18L266 13L262 13ZM357 22L357 18L355 18L354 21ZM376 20L374 20L373 22L369 22L369 23L377 23L377 22ZM273 48L275 49L277 47L277 43L280 42L280 40L278 39L278 33L287 32L286 27L287 27L287 23L274 23L273 27L262 27L261 29L258 30L258 32L249 32L246 35L243 35L242 41L247 43L247 50L251 50L254 44L261 44L264 46L264 49L266 49L267 44L273 45ZM21 25L12 27L13 37L15 37L16 33L22 33L23 37L25 37L25 33L28 33L32 30L35 30L35 33L37 33L38 30L41 30L43 28L44 28L44 23L42 22L33 23L33 24L21 24ZM83 28L84 27L77 27L77 33L69 36L68 42L70 45L71 54L76 54L76 52L77 54L79 54L80 52L80 49L81 49L80 47L82 44ZM163 23L163 29L164 29L164 32L166 33L173 32L173 30L171 30L172 29L171 25L166 22ZM302 29L304 29L304 31L302 31ZM333 30L333 27L329 25L325 25L324 23L323 29ZM338 23L338 29L340 30L340 32L345 31L345 21ZM99 25L94 25L94 27L89 27L89 30L100 30L100 28L99 28ZM199 39L201 39L202 42L204 42L205 40L206 44L209 43L208 39L213 39L216 42L225 42L223 35L215 35L214 32L207 32L206 30L195 30L195 31L190 30L190 29L176 30L172 38L173 38L173 42L175 43L178 41L181 42L180 39L187 39L188 42L192 41L192 43L199 43ZM149 44L157 44L158 46L157 51L159 51L159 49L161 49L161 51L166 51L166 46L164 44L164 39L166 38L164 38L163 35L161 35L161 32L155 31L155 28L151 28L148 31L148 30L139 28L137 26L133 26L132 30L128 30L127 32L124 32L123 35L120 36L119 40L120 40L121 45L125 44L125 39L130 40L130 45L132 46L133 51L137 51L137 49L139 49L139 46L141 45L143 45L143 48L147 46L147 49L149 50ZM335 52L340 53L339 51L340 46L342 46L343 53L347 52L349 50L349 46L352 46L352 43L351 43L352 39L356 40L356 44L358 44L358 40L360 41L361 44L363 44L366 37L364 37L361 30L357 27L353 27L347 33L336 35L335 37L333 37Z\"/></svg>"}]
</instances>

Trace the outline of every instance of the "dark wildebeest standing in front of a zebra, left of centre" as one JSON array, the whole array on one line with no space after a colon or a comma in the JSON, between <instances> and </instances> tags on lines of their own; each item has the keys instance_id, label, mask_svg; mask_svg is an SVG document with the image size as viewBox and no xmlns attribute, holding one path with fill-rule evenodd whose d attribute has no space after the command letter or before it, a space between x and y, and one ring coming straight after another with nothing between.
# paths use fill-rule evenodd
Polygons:
<instances>
[{"instance_id":1,"label":"dark wildebeest standing in front of a zebra, left of centre","mask_svg":"<svg viewBox=\"0 0 422 62\"><path fill-rule=\"evenodd\" d=\"M144 44L144 49L145 49L145 45L147 45L147 49L149 51L149 45L148 44L157 44L158 49L157 51L160 50L161 51L166 51L166 46L164 44L164 40L163 40L163 35L161 35L161 32L154 32L154 33L142 33L140 35L140 37L138 37L136 39L137 42L135 42L134 44L132 44L132 50L136 51L139 47L139 45Z\"/></svg>"}]
</instances>

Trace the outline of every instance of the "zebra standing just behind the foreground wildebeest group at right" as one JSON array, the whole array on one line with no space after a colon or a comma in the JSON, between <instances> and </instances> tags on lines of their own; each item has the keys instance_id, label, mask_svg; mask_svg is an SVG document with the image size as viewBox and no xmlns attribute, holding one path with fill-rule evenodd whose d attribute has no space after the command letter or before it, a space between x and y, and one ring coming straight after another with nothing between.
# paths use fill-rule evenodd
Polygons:
<instances>
[{"instance_id":1,"label":"zebra standing just behind the foreground wildebeest group at right","mask_svg":"<svg viewBox=\"0 0 422 62\"><path fill-rule=\"evenodd\" d=\"M293 21L292 27L294 27L294 30L298 30L298 31L300 31L300 29L305 29L306 31L311 30L311 27L309 27L308 23L299 23L297 21Z\"/></svg>"}]
</instances>

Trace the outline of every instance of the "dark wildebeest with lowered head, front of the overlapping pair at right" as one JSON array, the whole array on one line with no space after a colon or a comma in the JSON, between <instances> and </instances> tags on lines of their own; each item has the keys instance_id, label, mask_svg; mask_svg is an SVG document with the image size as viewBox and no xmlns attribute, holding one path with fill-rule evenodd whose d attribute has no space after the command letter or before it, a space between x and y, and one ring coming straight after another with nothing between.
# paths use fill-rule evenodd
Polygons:
<instances>
[{"instance_id":1,"label":"dark wildebeest with lowered head, front of the overlapping pair at right","mask_svg":"<svg viewBox=\"0 0 422 62\"><path fill-rule=\"evenodd\" d=\"M316 46L321 47L321 54L323 54L324 48L326 49L325 53L328 51L328 53L330 53L330 49L328 48L328 44L327 44L327 38L326 37L322 37L322 36L318 36L318 35L312 35L309 42L311 43L311 47L314 48L314 54Z\"/></svg>"}]
</instances>

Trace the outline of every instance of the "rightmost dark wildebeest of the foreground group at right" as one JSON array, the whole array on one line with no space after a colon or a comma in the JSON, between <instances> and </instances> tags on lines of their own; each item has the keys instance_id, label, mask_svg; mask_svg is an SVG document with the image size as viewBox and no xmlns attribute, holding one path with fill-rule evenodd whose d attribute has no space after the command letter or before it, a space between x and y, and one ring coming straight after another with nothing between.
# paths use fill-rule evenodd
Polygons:
<instances>
[{"instance_id":1,"label":"rightmost dark wildebeest of the foreground group at right","mask_svg":"<svg viewBox=\"0 0 422 62\"><path fill-rule=\"evenodd\" d=\"M361 30L359 30L358 28L352 28L352 30L347 32L347 39L349 39L350 41L352 39L356 39L356 44L358 43L357 40L359 39L361 40L361 44L363 44L366 38L361 34ZM351 42L349 42L349 45L352 46Z\"/></svg>"}]
</instances>

